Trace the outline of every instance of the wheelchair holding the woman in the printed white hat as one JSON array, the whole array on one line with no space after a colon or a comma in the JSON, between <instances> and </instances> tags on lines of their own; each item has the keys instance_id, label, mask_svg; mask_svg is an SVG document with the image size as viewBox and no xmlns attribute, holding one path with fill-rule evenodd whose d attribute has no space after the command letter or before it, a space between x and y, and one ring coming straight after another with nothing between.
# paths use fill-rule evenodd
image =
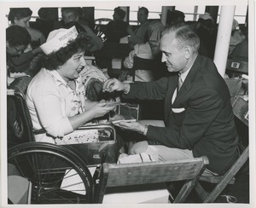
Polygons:
<instances>
[{"instance_id":1,"label":"wheelchair holding the woman in the printed white hat","mask_svg":"<svg viewBox=\"0 0 256 208\"><path fill-rule=\"evenodd\" d=\"M76 139L77 134L86 136L89 131L96 130L99 132L96 142L64 145L35 142L35 134L42 132L33 130L24 92L17 85L19 83L7 91L8 165L9 172L14 169L15 176L25 180L28 185L26 200L15 201L12 196L19 189L15 184L12 186L9 175L9 204L93 203L93 171L103 162L117 161L113 125L82 126L70 136Z\"/></svg>"}]
</instances>

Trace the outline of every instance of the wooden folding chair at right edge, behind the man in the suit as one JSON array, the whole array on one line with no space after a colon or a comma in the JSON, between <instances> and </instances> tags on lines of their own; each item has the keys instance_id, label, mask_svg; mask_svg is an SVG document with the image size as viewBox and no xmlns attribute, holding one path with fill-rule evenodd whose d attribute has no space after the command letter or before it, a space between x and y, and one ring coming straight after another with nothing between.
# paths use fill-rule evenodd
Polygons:
<instances>
[{"instance_id":1,"label":"wooden folding chair at right edge, behind the man in the suit","mask_svg":"<svg viewBox=\"0 0 256 208\"><path fill-rule=\"evenodd\" d=\"M237 96L236 100L233 103L233 111L236 118L241 120L243 124L248 125L247 120L247 112L248 112L248 104L247 101L244 101L241 96ZM236 173L241 169L242 165L247 162L249 158L249 147L243 147L244 150L240 154L239 158L236 160L235 164L230 167L224 176L218 175L205 175L204 173L201 175L199 180L196 182L195 190L197 194L201 197L204 203L212 203L214 202L218 195L226 188L228 184L234 184L236 182ZM202 188L200 182L210 182L212 184L216 184L215 188L213 188L212 192L209 194L207 191Z\"/></svg>"}]
</instances>

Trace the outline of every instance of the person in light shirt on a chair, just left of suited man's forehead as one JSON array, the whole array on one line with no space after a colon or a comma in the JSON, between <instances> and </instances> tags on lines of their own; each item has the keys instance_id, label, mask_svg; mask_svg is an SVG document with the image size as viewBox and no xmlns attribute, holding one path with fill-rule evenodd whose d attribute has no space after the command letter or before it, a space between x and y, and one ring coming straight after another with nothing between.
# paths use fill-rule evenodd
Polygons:
<instances>
[{"instance_id":1,"label":"person in light shirt on a chair, just left of suited man's forehead","mask_svg":"<svg viewBox=\"0 0 256 208\"><path fill-rule=\"evenodd\" d=\"M160 20L154 20L148 25L148 42L140 43L134 46L134 49L130 52L129 56L125 58L125 68L133 67L134 56L137 55L143 59L154 60L155 57L160 55L160 35L164 26ZM153 81L154 72L150 70L136 70L135 81L149 82Z\"/></svg>"}]
</instances>

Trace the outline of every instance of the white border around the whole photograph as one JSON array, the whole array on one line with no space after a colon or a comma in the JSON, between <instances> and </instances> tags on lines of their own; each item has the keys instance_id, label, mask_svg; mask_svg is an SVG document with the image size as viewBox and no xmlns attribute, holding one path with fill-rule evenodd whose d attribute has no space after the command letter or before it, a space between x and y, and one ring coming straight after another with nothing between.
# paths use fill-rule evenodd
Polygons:
<instances>
[{"instance_id":1,"label":"white border around the whole photograph","mask_svg":"<svg viewBox=\"0 0 256 208\"><path fill-rule=\"evenodd\" d=\"M0 43L3 47L3 51L1 52L0 63L1 63L1 167L0 167L0 184L1 184L1 196L0 198L0 206L2 207L27 207L27 205L7 205L7 125L6 125L6 57L5 57L5 27L3 26L3 21L6 20L6 8L12 7L30 7L34 4L40 4L42 7L67 7L67 6L94 6L96 4L102 5L102 3L113 3L113 8L115 6L127 6L132 3L137 2L135 0L130 1L83 1L77 0L75 2L72 1L63 1L63 0L55 0L55 1L38 1L38 0L27 0L27 1L12 1L12 0L1 0L0 2L0 22L1 22L1 38ZM143 5L145 3L161 3L163 5L243 5L244 3L249 3L249 113L250 113L250 121L249 121L249 142L250 142L250 204L183 204L183 205L74 205L75 207L206 207L206 206L216 206L216 207L256 207L255 205L255 2L254 0L194 0L194 1L161 1L161 0L141 0ZM45 207L44 205L31 205L31 207ZM47 207L73 207L71 205L47 205Z\"/></svg>"}]
</instances>

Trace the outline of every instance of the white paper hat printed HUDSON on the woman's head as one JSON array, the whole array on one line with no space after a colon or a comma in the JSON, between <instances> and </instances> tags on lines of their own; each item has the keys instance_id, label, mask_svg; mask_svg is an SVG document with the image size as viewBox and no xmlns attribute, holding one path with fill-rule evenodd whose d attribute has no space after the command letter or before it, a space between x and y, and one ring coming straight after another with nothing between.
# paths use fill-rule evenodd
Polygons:
<instances>
[{"instance_id":1,"label":"white paper hat printed HUDSON on the woman's head","mask_svg":"<svg viewBox=\"0 0 256 208\"><path fill-rule=\"evenodd\" d=\"M78 31L75 26L69 29L58 29L52 32L49 32L49 36L46 40L46 43L40 45L40 48L43 49L44 54L49 55L53 51L65 47L69 40L74 40L78 36Z\"/></svg>"}]
</instances>

